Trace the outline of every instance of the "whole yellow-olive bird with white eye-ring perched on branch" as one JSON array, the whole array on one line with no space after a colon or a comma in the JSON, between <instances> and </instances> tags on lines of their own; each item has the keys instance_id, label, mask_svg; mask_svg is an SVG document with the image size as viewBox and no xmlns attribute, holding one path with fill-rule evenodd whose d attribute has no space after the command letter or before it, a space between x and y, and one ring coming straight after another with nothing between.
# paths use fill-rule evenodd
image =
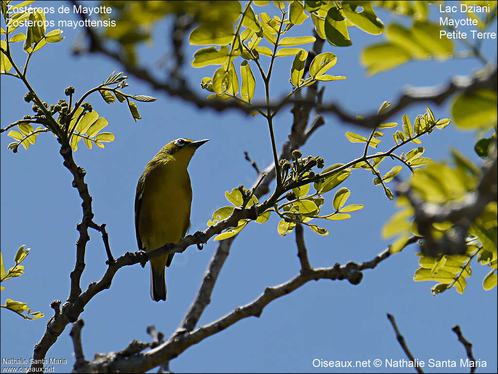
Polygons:
<instances>
[{"instance_id":1,"label":"whole yellow-olive bird with white eye-ring perched on branch","mask_svg":"<svg viewBox=\"0 0 498 374\"><path fill-rule=\"evenodd\" d=\"M181 241L190 227L192 186L187 166L196 149L209 139L170 141L145 165L135 195L138 249L152 250ZM150 260L150 297L166 300L164 268L173 254Z\"/></svg>"}]
</instances>

